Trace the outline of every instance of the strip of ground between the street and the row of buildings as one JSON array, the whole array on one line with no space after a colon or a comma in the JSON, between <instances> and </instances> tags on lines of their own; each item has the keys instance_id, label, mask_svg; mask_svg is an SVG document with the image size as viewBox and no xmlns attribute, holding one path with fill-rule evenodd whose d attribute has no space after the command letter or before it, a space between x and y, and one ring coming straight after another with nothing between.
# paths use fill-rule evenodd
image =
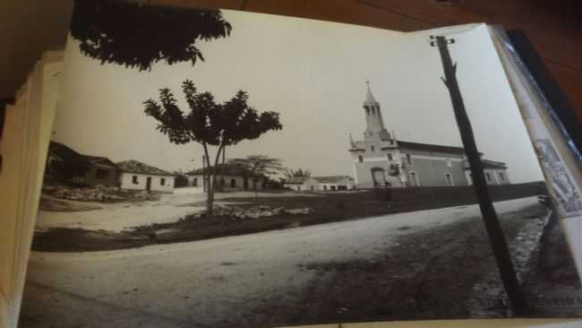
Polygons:
<instances>
[{"instance_id":1,"label":"strip of ground between the street and the row of buildings","mask_svg":"<svg viewBox=\"0 0 582 328\"><path fill-rule=\"evenodd\" d=\"M133 204L56 203L53 200L51 204L56 211L39 213L32 249L45 252L123 249L475 203L471 194L459 197L431 188L394 193L389 197L385 190L330 194L261 193L258 197L252 193L218 194L219 206L266 205L311 210L309 214L282 214L255 220L201 218L196 215L205 207L200 194L165 194L158 201ZM494 196L496 201L501 201L524 194L529 196L533 192L526 190L526 193ZM67 207L61 204L63 202L70 204ZM158 233L160 231L163 233Z\"/></svg>"}]
</instances>

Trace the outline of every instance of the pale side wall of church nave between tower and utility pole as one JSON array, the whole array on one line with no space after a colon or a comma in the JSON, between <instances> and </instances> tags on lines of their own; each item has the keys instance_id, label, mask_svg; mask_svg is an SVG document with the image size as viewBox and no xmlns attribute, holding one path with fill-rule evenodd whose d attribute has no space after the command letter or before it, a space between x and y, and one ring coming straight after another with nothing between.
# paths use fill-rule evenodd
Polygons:
<instances>
[{"instance_id":1,"label":"pale side wall of church nave between tower and utility pole","mask_svg":"<svg viewBox=\"0 0 582 328\"><path fill-rule=\"evenodd\" d=\"M449 186L447 174L450 174L453 186L467 186L461 154L407 149L401 149L400 153L408 186L414 186L410 181L411 172L416 173L420 186ZM407 155L410 155L410 163Z\"/></svg>"}]
</instances>

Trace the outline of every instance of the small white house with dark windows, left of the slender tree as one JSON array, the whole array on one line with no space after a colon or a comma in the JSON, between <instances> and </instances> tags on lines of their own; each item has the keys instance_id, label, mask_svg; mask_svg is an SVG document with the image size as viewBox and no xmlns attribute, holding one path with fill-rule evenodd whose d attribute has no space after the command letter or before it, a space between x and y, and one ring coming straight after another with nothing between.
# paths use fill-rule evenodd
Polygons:
<instances>
[{"instance_id":1,"label":"small white house with dark windows, left of the slender tree","mask_svg":"<svg viewBox=\"0 0 582 328\"><path fill-rule=\"evenodd\" d=\"M171 193L174 191L174 174L154 168L137 160L116 163L119 168L119 186L123 189Z\"/></svg>"}]
</instances>

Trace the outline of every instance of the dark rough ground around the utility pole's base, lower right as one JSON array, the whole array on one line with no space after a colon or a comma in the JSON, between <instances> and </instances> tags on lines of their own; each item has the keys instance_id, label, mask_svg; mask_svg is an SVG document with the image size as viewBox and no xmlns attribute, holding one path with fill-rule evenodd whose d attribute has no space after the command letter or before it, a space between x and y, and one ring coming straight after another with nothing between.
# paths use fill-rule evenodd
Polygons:
<instances>
[{"instance_id":1,"label":"dark rough ground around the utility pole's base, lower right","mask_svg":"<svg viewBox=\"0 0 582 328\"><path fill-rule=\"evenodd\" d=\"M564 312L536 307L541 292L580 294L578 280L548 281L536 274L536 245L546 212L534 205L501 215L532 306L529 315L579 316L580 308ZM562 264L567 266L562 271L575 274L571 259ZM372 260L307 263L302 269L317 272L318 278L306 289L304 311L294 324L512 315L481 218L403 235L385 255Z\"/></svg>"}]
</instances>

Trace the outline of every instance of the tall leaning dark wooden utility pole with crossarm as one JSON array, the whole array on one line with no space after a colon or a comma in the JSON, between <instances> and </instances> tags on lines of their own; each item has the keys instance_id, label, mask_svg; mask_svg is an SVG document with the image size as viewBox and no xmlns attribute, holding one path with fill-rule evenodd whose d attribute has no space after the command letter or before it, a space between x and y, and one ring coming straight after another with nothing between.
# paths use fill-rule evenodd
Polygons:
<instances>
[{"instance_id":1,"label":"tall leaning dark wooden utility pole with crossarm","mask_svg":"<svg viewBox=\"0 0 582 328\"><path fill-rule=\"evenodd\" d=\"M523 314L527 308L526 298L524 298L521 286L519 285L513 263L511 262L511 255L509 255L509 248L505 241L505 236L503 236L503 230L501 229L499 218L493 207L489 189L487 188L481 155L479 154L479 151L477 151L473 128L471 127L469 117L466 115L461 91L458 89L457 64L453 65L450 59L449 43L455 43L455 39L447 39L443 36L431 36L431 39L431 46L438 47L439 52L441 53L442 67L445 74L444 78L441 77L441 80L445 83L447 89L449 89L450 100L453 105L453 111L455 112L455 118L457 119L458 130L461 134L466 158L471 168L475 194L479 201L479 208L481 209L485 229L487 230L493 255L495 255L495 261L499 268L503 287L508 294L512 309L517 314Z\"/></svg>"}]
</instances>

